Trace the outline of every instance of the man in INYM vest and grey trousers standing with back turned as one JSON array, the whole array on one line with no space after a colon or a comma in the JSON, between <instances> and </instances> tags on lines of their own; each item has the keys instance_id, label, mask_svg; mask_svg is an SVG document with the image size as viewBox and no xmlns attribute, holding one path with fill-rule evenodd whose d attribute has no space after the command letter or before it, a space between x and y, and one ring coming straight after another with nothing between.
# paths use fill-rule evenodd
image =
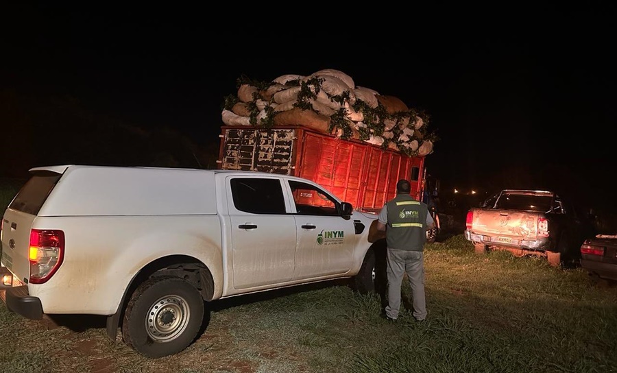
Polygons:
<instances>
[{"instance_id":1,"label":"man in INYM vest and grey trousers standing with back turned","mask_svg":"<svg viewBox=\"0 0 617 373\"><path fill-rule=\"evenodd\" d=\"M396 183L396 197L386 202L377 221L377 229L385 230L387 243L388 305L385 318L394 321L400 310L400 286L405 273L411 285L413 317L426 318L424 299L424 243L426 230L435 221L425 203L409 195L411 184L407 180Z\"/></svg>"}]
</instances>

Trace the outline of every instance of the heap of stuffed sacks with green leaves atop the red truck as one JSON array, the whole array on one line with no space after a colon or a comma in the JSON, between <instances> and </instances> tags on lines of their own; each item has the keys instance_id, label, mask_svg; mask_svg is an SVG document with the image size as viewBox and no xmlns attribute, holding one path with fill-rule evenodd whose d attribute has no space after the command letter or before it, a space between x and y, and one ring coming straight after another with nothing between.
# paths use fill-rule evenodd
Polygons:
<instances>
[{"instance_id":1,"label":"heap of stuffed sacks with green leaves atop the red truck","mask_svg":"<svg viewBox=\"0 0 617 373\"><path fill-rule=\"evenodd\" d=\"M404 154L433 152L428 117L394 96L356 86L335 69L308 76L281 75L268 83L239 82L221 114L225 125L302 125L343 139L356 139Z\"/></svg>"}]
</instances>

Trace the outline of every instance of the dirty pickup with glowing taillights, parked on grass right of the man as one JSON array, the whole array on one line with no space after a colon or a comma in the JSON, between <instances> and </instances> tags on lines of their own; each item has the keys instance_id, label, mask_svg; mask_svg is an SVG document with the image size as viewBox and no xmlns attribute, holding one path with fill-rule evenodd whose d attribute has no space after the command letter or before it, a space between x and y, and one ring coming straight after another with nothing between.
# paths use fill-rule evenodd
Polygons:
<instances>
[{"instance_id":1,"label":"dirty pickup with glowing taillights, parked on grass right of the man","mask_svg":"<svg viewBox=\"0 0 617 373\"><path fill-rule=\"evenodd\" d=\"M478 208L470 208L465 239L478 254L508 250L517 256L537 255L551 265L580 260L583 241L593 236L590 217L553 191L505 189Z\"/></svg>"}]
</instances>

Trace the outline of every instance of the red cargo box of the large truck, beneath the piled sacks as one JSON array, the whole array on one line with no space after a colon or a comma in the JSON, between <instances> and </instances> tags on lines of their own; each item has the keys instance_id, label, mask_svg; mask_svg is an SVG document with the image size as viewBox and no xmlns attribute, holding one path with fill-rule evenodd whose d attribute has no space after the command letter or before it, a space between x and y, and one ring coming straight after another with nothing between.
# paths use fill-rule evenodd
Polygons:
<instances>
[{"instance_id":1,"label":"red cargo box of the large truck, beneath the piled sacks","mask_svg":"<svg viewBox=\"0 0 617 373\"><path fill-rule=\"evenodd\" d=\"M345 140L300 125L221 127L219 169L300 176L321 184L357 210L379 213L396 194L396 182L424 191L424 156L405 156L364 141Z\"/></svg>"}]
</instances>

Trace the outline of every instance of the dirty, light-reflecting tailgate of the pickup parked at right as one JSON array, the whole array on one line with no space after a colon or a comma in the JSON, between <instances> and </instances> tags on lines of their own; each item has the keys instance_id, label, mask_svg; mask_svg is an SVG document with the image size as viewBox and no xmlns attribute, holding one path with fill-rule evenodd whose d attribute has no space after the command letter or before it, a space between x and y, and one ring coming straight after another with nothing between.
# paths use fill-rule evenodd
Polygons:
<instances>
[{"instance_id":1,"label":"dirty, light-reflecting tailgate of the pickup parked at right","mask_svg":"<svg viewBox=\"0 0 617 373\"><path fill-rule=\"evenodd\" d=\"M515 243L537 237L537 213L516 210L473 210L472 232L494 237L492 241Z\"/></svg>"}]
</instances>

